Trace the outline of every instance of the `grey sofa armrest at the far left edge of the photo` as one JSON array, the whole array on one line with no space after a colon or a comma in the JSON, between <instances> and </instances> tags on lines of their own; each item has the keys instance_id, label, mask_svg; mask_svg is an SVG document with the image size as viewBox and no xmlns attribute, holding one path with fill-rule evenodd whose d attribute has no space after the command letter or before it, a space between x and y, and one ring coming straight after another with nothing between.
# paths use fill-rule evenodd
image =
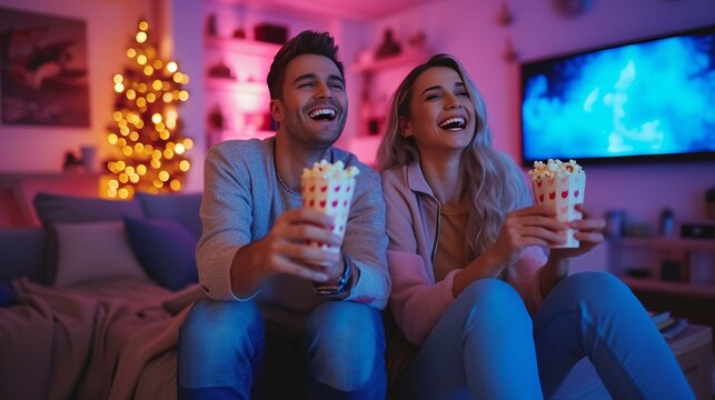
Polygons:
<instances>
[{"instance_id":1,"label":"grey sofa armrest at the far left edge of the photo","mask_svg":"<svg viewBox=\"0 0 715 400\"><path fill-rule=\"evenodd\" d=\"M28 277L44 281L44 230L32 228L0 229L0 280Z\"/></svg>"}]
</instances>

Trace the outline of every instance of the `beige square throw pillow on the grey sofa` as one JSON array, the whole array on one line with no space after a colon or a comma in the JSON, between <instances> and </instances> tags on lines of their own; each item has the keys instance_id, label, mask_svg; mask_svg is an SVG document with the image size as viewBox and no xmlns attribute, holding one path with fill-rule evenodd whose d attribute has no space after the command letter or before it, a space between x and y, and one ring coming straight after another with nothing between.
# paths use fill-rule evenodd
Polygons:
<instances>
[{"instance_id":1,"label":"beige square throw pillow on the grey sofa","mask_svg":"<svg viewBox=\"0 0 715 400\"><path fill-rule=\"evenodd\" d=\"M112 279L148 281L121 221L57 223L56 286L71 287Z\"/></svg>"}]
</instances>

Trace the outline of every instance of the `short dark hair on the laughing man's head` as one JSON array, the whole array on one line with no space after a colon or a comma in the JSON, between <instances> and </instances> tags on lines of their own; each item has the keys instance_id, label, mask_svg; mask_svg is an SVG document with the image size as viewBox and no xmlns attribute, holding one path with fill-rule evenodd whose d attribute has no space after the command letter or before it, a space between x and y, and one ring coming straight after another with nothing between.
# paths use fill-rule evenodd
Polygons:
<instances>
[{"instance_id":1,"label":"short dark hair on the laughing man's head","mask_svg":"<svg viewBox=\"0 0 715 400\"><path fill-rule=\"evenodd\" d=\"M282 84L286 78L286 67L298 56L318 54L329 58L345 79L342 62L338 59L338 47L328 32L302 31L284 44L270 64L268 71L268 91L271 99L282 98Z\"/></svg>"}]
</instances>

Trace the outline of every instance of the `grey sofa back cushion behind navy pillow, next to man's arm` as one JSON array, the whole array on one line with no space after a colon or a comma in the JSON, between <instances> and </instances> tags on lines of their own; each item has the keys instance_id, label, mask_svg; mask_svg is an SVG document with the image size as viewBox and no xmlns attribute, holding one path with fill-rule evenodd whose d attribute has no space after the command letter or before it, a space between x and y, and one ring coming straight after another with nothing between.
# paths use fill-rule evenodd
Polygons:
<instances>
[{"instance_id":1,"label":"grey sofa back cushion behind navy pillow, next to man's arm","mask_svg":"<svg viewBox=\"0 0 715 400\"><path fill-rule=\"evenodd\" d=\"M198 240L201 237L201 193L137 193L143 214L152 219L170 219L181 223Z\"/></svg>"}]
</instances>

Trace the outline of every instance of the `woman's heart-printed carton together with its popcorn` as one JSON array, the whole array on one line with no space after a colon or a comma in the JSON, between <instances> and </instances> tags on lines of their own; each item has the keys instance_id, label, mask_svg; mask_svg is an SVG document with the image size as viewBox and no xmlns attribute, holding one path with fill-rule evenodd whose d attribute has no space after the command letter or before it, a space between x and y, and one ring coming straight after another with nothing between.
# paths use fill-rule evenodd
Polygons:
<instances>
[{"instance_id":1,"label":"woman's heart-printed carton together with its popcorn","mask_svg":"<svg viewBox=\"0 0 715 400\"><path fill-rule=\"evenodd\" d=\"M554 208L556 219L566 222L580 219L582 213L575 206L584 202L586 190L586 172L574 160L562 162L549 159L546 163L535 161L530 170L534 202ZM577 248L578 240L574 238L574 230L566 231L566 243L552 248Z\"/></svg>"}]
</instances>

